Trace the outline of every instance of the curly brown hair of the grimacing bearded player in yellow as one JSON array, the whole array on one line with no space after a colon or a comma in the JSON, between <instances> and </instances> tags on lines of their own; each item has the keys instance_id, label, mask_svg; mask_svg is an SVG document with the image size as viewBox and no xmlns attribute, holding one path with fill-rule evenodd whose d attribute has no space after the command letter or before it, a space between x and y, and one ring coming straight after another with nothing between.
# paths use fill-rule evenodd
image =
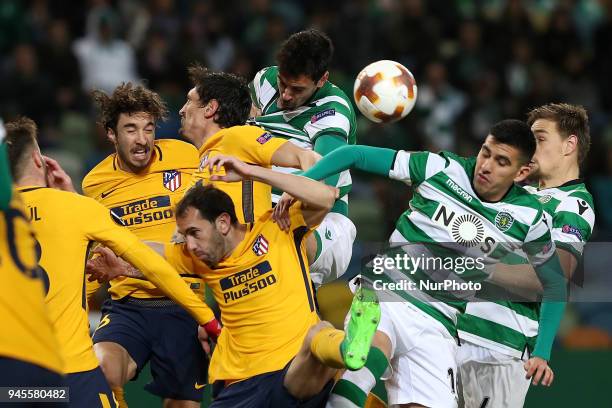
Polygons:
<instances>
[{"instance_id":1,"label":"curly brown hair of the grimacing bearded player in yellow","mask_svg":"<svg viewBox=\"0 0 612 408\"><path fill-rule=\"evenodd\" d=\"M100 109L99 123L107 130L117 131L117 122L122 113L145 112L153 116L154 122L165 120L168 116L168 108L157 93L131 82L122 83L110 96L104 91L95 90L92 97Z\"/></svg>"}]
</instances>

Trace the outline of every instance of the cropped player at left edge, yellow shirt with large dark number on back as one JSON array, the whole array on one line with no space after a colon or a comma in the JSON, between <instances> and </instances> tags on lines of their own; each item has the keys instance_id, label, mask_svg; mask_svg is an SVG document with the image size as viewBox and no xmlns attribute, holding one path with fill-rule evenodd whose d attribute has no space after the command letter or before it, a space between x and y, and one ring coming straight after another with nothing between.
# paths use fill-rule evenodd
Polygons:
<instances>
[{"instance_id":1,"label":"cropped player at left edge, yellow shirt with large dark number on back","mask_svg":"<svg viewBox=\"0 0 612 408\"><path fill-rule=\"evenodd\" d=\"M36 241L21 197L12 191L3 136L0 125L0 386L63 386Z\"/></svg>"}]
</instances>

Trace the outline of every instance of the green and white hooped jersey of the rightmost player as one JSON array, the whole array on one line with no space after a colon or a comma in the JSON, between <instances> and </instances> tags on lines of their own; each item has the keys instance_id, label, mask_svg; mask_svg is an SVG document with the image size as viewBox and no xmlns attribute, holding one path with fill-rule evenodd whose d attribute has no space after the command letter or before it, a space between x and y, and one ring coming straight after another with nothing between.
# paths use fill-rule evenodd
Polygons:
<instances>
[{"instance_id":1,"label":"green and white hooped jersey of the rightmost player","mask_svg":"<svg viewBox=\"0 0 612 408\"><path fill-rule=\"evenodd\" d=\"M555 245L580 259L595 224L593 197L580 180L556 188L526 187L552 220ZM538 334L539 304L472 302L459 317L459 337L479 346L522 358L533 351Z\"/></svg>"}]
</instances>

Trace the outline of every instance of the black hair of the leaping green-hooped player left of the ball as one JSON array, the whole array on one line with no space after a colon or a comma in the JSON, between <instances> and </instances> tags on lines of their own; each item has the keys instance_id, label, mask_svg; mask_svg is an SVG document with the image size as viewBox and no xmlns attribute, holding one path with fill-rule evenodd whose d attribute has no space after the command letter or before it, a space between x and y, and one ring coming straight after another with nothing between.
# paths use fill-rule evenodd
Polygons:
<instances>
[{"instance_id":1,"label":"black hair of the leaping green-hooped player left of the ball","mask_svg":"<svg viewBox=\"0 0 612 408\"><path fill-rule=\"evenodd\" d=\"M306 75L316 82L328 70L333 55L329 37L311 29L287 38L276 54L276 62L281 74L290 78Z\"/></svg>"}]
</instances>

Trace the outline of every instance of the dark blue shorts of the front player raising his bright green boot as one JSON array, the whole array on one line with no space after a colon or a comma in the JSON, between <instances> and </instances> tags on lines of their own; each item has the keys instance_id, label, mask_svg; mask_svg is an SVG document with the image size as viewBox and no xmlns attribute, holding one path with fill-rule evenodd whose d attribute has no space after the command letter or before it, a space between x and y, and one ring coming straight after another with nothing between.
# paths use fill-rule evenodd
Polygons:
<instances>
[{"instance_id":1,"label":"dark blue shorts of the front player raising his bright green boot","mask_svg":"<svg viewBox=\"0 0 612 408\"><path fill-rule=\"evenodd\" d=\"M289 364L284 369L272 371L239 381L225 388L213 388L215 397L209 408L319 408L325 407L334 385L329 380L321 392L307 400L298 400L289 394L283 382ZM218 392L215 392L218 391Z\"/></svg>"}]
</instances>

